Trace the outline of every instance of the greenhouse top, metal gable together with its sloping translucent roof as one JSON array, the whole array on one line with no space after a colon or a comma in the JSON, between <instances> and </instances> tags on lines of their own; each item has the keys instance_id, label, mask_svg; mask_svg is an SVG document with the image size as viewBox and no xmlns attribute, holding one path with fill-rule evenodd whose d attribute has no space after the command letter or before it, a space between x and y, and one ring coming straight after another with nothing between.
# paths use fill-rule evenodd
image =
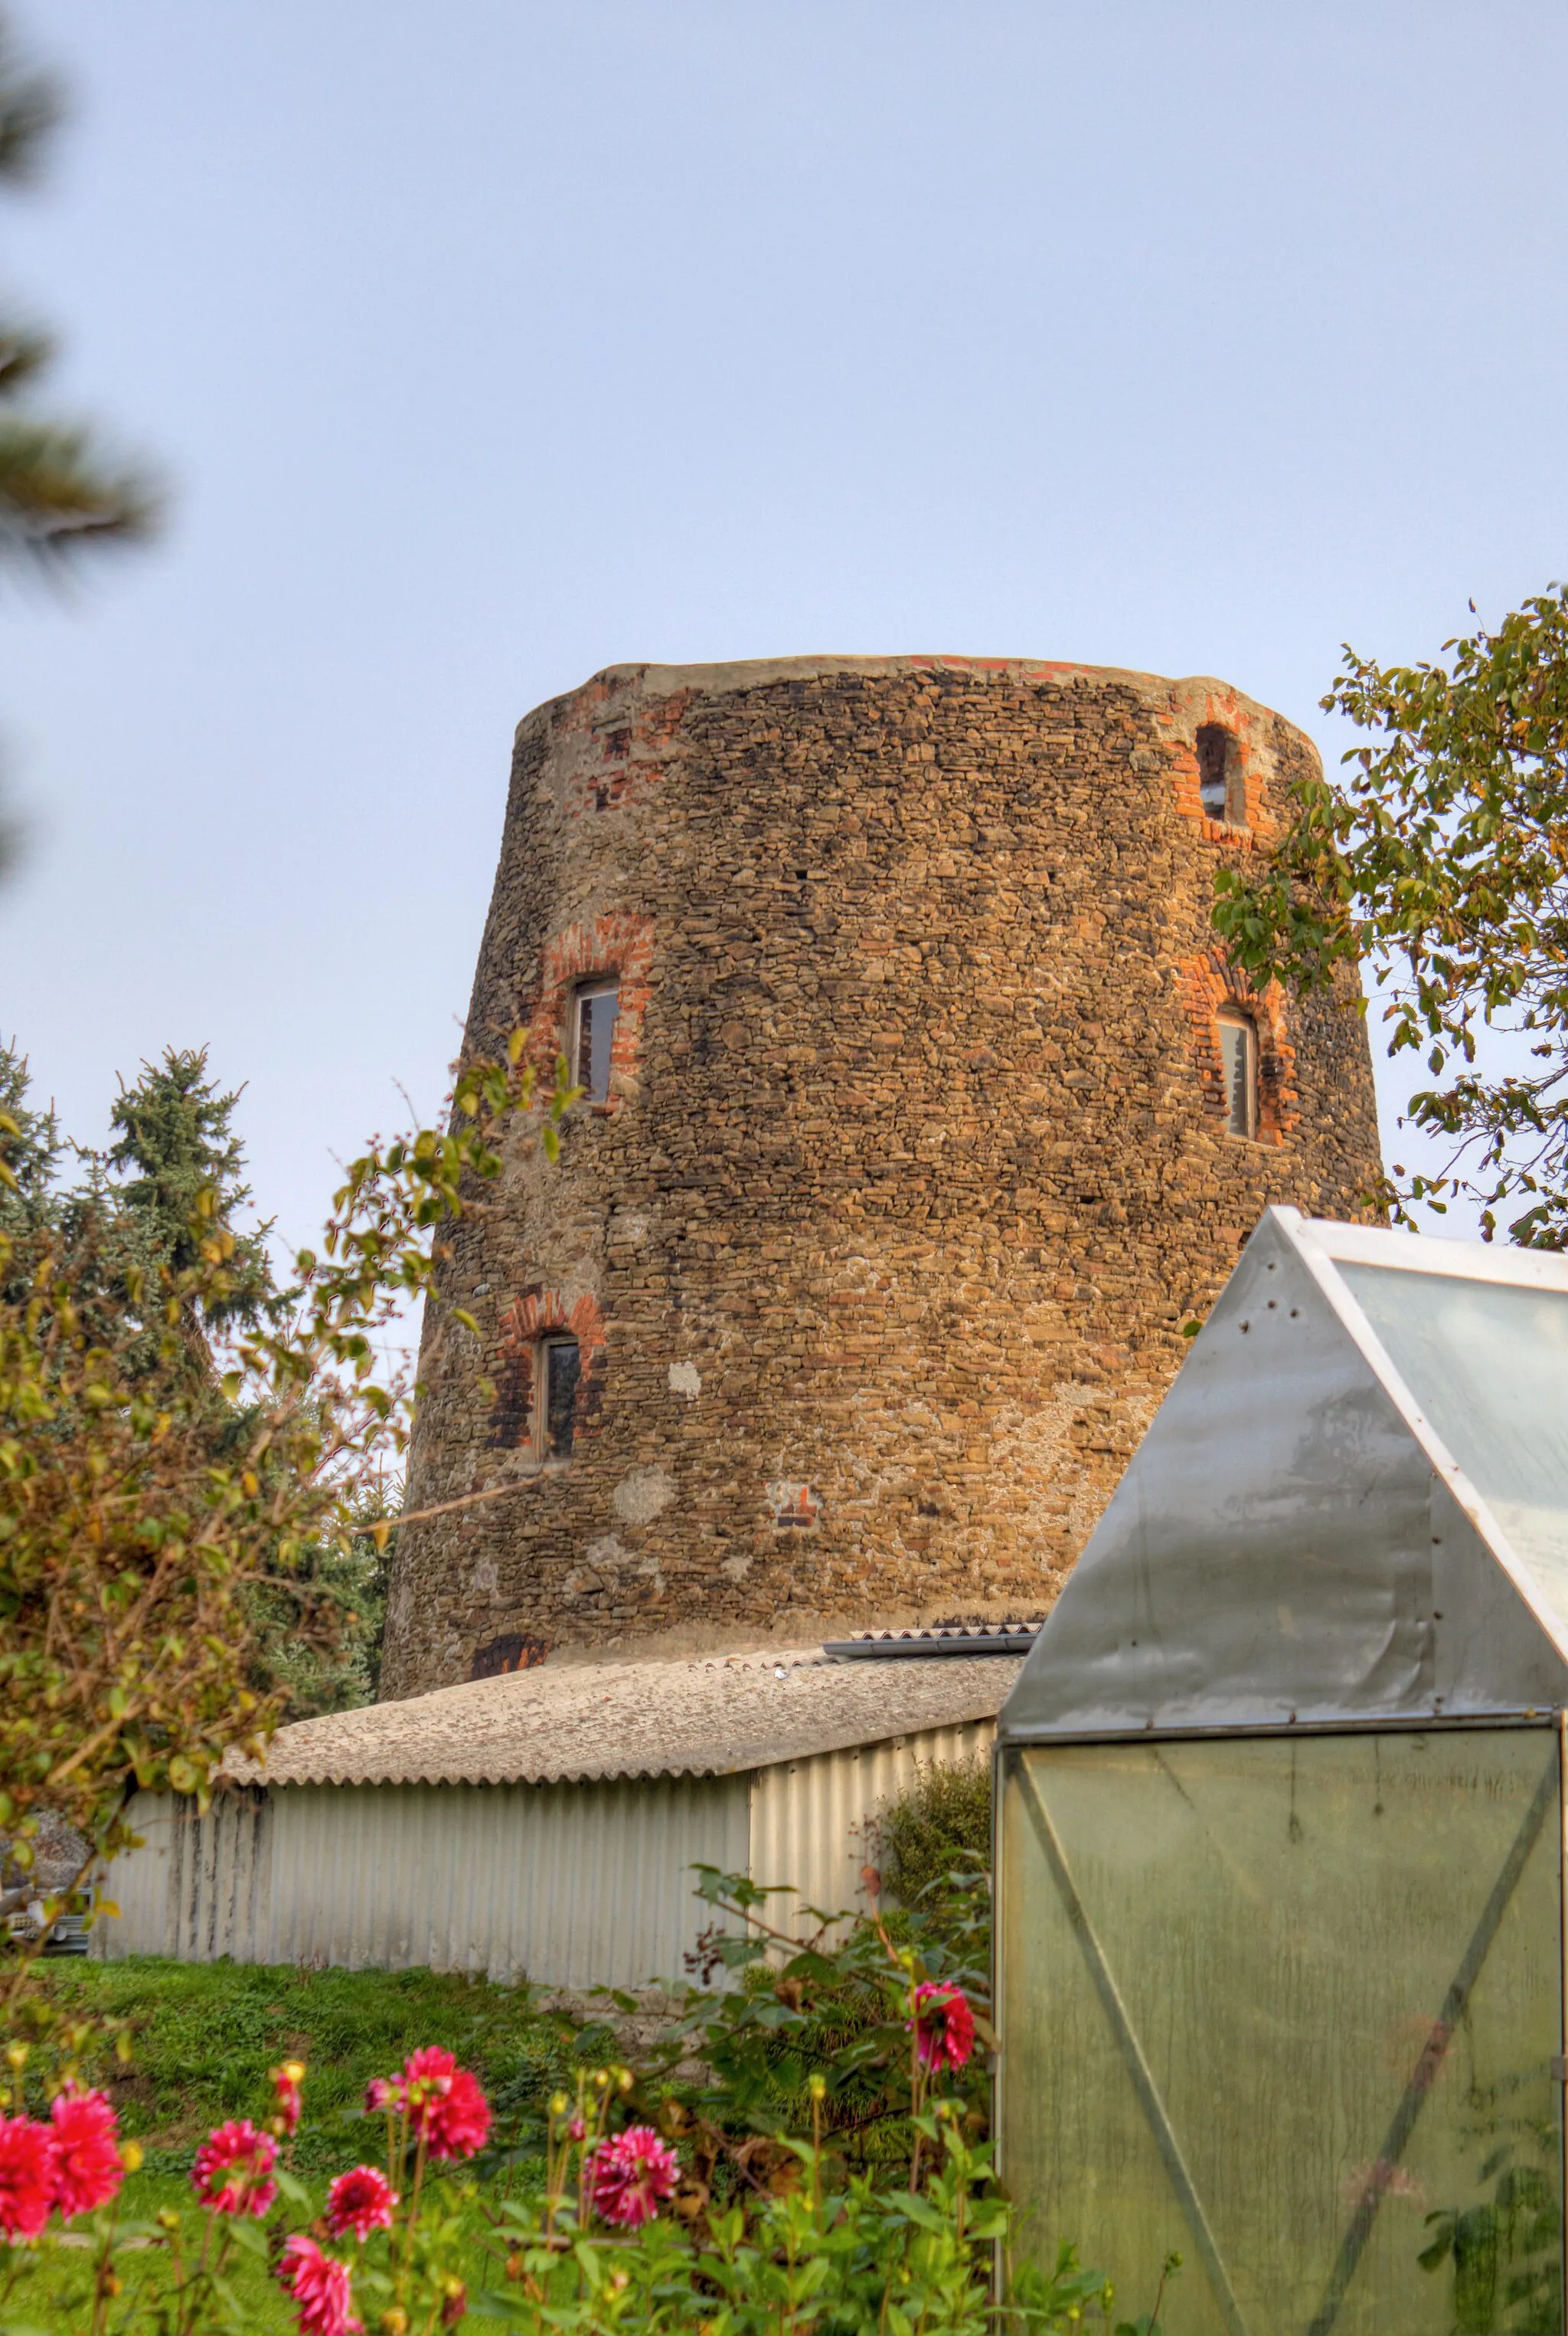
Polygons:
<instances>
[{"instance_id":1,"label":"greenhouse top, metal gable together with its sloping translucent roof","mask_svg":"<svg viewBox=\"0 0 1568 2336\"><path fill-rule=\"evenodd\" d=\"M1568 1259L1265 1212L1003 1740L1568 1705Z\"/></svg>"}]
</instances>

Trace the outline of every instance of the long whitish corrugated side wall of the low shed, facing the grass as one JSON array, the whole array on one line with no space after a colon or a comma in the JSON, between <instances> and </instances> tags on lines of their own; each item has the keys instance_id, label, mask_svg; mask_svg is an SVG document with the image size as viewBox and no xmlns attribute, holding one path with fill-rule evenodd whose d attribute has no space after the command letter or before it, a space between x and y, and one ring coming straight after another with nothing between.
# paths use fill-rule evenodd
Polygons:
<instances>
[{"instance_id":1,"label":"long whitish corrugated side wall of the low shed, facing the grass","mask_svg":"<svg viewBox=\"0 0 1568 2336\"><path fill-rule=\"evenodd\" d=\"M292 1785L135 1824L110 1958L635 1988L681 1979L707 1918L688 1869L747 1864L747 1780Z\"/></svg>"}]
</instances>

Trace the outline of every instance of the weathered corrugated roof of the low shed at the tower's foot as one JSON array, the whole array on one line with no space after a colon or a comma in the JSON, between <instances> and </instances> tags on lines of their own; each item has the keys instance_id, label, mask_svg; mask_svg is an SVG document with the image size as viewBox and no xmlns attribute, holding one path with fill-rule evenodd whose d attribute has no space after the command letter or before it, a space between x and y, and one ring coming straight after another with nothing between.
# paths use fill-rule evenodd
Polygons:
<instances>
[{"instance_id":1,"label":"weathered corrugated roof of the low shed at the tower's foot","mask_svg":"<svg viewBox=\"0 0 1568 2336\"><path fill-rule=\"evenodd\" d=\"M819 1647L698 1661L544 1663L278 1729L266 1785L553 1785L733 1775L992 1719L1008 1656L835 1663Z\"/></svg>"}]
</instances>

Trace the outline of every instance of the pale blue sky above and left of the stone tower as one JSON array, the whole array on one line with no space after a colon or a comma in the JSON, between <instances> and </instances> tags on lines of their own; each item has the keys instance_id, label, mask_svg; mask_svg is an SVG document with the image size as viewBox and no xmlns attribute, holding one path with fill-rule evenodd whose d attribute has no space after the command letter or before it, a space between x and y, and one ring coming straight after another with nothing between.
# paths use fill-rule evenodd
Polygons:
<instances>
[{"instance_id":1,"label":"pale blue sky above and left of the stone tower","mask_svg":"<svg viewBox=\"0 0 1568 2336\"><path fill-rule=\"evenodd\" d=\"M210 1042L259 1198L443 1091L516 719L793 652L1307 722L1568 568L1568 14L21 0L0 215L163 544L0 607L0 1021L68 1124ZM1395 1086L1398 1091L1398 1086Z\"/></svg>"}]
</instances>

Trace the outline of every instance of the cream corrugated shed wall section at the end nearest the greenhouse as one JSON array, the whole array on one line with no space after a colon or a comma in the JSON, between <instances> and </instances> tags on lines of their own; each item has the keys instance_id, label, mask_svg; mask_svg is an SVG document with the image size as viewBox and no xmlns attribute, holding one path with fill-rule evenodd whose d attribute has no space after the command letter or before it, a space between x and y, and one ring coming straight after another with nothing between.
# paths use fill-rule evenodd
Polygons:
<instances>
[{"instance_id":1,"label":"cream corrugated shed wall section at the end nearest the greenhouse","mask_svg":"<svg viewBox=\"0 0 1568 2336\"><path fill-rule=\"evenodd\" d=\"M758 1768L751 1778L751 1880L791 1883L805 1906L824 1913L863 1911L866 1820L908 1792L919 1768L987 1759L994 1736L994 1719L971 1719ZM775 1899L768 1920L789 1930L782 1906Z\"/></svg>"}]
</instances>

